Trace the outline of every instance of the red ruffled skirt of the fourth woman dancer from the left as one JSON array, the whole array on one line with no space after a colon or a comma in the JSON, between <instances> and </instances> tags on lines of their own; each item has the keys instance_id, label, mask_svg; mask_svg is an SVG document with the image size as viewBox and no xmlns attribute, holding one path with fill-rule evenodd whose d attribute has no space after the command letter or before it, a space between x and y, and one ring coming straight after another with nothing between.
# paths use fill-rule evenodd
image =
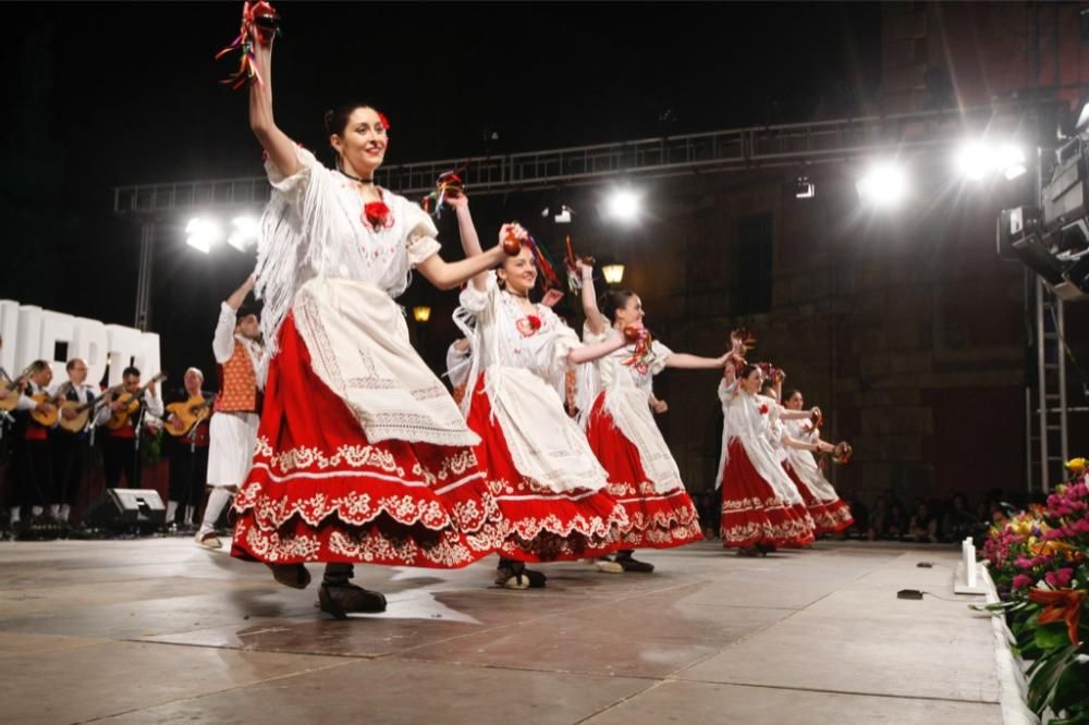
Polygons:
<instances>
[{"instance_id":1,"label":"red ruffled skirt of the fourth woman dancer from the left","mask_svg":"<svg viewBox=\"0 0 1089 725\"><path fill-rule=\"evenodd\" d=\"M757 472L745 446L730 442L722 474L722 545L804 546L813 541L813 521L804 504L784 501Z\"/></svg>"}]
</instances>

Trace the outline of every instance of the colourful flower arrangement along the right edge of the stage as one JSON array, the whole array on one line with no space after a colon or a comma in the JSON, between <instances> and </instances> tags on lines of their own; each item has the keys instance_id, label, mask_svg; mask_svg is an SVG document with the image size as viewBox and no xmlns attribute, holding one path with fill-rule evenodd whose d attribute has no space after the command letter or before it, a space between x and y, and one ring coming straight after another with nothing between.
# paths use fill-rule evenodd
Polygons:
<instances>
[{"instance_id":1,"label":"colourful flower arrangement along the right edge of the stage","mask_svg":"<svg viewBox=\"0 0 1089 725\"><path fill-rule=\"evenodd\" d=\"M1031 663L1027 704L1052 725L1089 723L1089 472L1067 467L1047 504L991 527L981 555L1002 601L976 607L1006 617Z\"/></svg>"}]
</instances>

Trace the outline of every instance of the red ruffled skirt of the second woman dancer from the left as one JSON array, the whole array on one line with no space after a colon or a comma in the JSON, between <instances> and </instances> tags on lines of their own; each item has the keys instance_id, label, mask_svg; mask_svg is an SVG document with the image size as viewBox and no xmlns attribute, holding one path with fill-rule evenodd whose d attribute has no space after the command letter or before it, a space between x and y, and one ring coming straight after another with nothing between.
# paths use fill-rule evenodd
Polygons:
<instances>
[{"instance_id":1,"label":"red ruffled skirt of the second woman dancer from the left","mask_svg":"<svg viewBox=\"0 0 1089 725\"><path fill-rule=\"evenodd\" d=\"M620 537L627 517L604 489L555 492L518 472L491 414L484 379L482 374L477 379L467 422L482 441L475 453L501 514L504 536L499 553L521 562L555 562L592 558L623 548Z\"/></svg>"}]
</instances>

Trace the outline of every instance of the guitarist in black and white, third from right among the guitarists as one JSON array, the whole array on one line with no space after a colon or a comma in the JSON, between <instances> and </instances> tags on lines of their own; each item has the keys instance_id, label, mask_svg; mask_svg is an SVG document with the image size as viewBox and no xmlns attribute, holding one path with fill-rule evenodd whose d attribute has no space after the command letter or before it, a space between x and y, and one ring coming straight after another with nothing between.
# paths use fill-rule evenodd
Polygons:
<instances>
[{"instance_id":1,"label":"guitarist in black and white, third from right among the guitarists","mask_svg":"<svg viewBox=\"0 0 1089 725\"><path fill-rule=\"evenodd\" d=\"M61 405L66 402L75 405L94 405L95 388L87 384L87 361L73 357L64 369L69 379L54 386L53 400ZM68 406L61 408L60 417L64 420L75 420L78 414L74 406ZM50 433L49 441L53 453L53 488L60 502L57 518L66 524L83 489L83 475L90 453L90 433L87 426L83 426L78 431L70 431L58 426Z\"/></svg>"}]
</instances>

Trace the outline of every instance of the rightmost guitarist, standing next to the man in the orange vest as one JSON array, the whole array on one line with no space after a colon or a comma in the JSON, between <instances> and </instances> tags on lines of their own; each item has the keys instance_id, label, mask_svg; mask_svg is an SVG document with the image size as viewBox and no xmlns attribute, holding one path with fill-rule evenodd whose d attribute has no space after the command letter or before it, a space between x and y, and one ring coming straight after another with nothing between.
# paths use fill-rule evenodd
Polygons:
<instances>
[{"instance_id":1,"label":"rightmost guitarist, standing next to the man in the orange vest","mask_svg":"<svg viewBox=\"0 0 1089 725\"><path fill-rule=\"evenodd\" d=\"M183 378L184 388L163 394L163 403L169 409L174 403L200 400L211 401L213 394L201 389L204 372L189 368ZM210 406L197 411L201 418L187 432L163 438L167 456L170 459L170 496L167 503L167 524L193 526L196 508L204 495L208 480L208 425ZM185 422L173 413L167 414L167 432L184 430ZM192 529L191 529L192 530Z\"/></svg>"}]
</instances>

